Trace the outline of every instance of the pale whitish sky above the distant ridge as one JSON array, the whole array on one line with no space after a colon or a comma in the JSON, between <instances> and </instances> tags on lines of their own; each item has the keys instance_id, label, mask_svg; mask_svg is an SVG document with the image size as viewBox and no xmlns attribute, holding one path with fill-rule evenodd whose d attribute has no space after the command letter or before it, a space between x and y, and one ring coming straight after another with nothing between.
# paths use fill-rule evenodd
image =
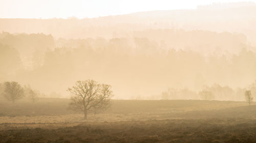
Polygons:
<instances>
[{"instance_id":1,"label":"pale whitish sky above the distant ridge","mask_svg":"<svg viewBox=\"0 0 256 143\"><path fill-rule=\"evenodd\" d=\"M0 18L77 18L140 11L196 9L198 5L248 1L214 0L0 0ZM250 2L256 2L251 0Z\"/></svg>"}]
</instances>

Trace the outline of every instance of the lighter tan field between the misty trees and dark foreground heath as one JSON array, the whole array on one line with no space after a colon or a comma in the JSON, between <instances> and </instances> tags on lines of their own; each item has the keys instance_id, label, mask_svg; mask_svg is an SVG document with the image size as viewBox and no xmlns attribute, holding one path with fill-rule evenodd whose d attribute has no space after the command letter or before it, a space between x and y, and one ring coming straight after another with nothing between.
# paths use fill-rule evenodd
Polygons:
<instances>
[{"instance_id":1,"label":"lighter tan field between the misty trees and dark foreground heath","mask_svg":"<svg viewBox=\"0 0 256 143\"><path fill-rule=\"evenodd\" d=\"M0 102L0 123L74 123L83 115L69 110L69 99L41 98L36 103L22 100ZM205 118L256 118L256 106L245 102L203 100L113 100L103 113L88 121L131 121Z\"/></svg>"}]
</instances>

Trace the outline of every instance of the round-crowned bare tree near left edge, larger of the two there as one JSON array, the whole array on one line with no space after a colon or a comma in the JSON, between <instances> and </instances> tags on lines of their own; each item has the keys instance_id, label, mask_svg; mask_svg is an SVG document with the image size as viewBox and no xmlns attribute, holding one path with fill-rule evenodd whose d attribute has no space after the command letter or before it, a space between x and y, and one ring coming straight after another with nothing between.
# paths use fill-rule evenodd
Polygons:
<instances>
[{"instance_id":1,"label":"round-crowned bare tree near left edge, larger of the two there","mask_svg":"<svg viewBox=\"0 0 256 143\"><path fill-rule=\"evenodd\" d=\"M5 82L4 98L14 103L16 100L24 97L24 89L18 82Z\"/></svg>"}]
</instances>

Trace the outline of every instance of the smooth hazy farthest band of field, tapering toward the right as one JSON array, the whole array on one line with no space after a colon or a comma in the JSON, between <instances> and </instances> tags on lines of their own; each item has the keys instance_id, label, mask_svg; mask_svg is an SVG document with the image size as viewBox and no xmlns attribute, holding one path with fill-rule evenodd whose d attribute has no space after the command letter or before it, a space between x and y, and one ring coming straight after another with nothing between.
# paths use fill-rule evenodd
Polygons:
<instances>
[{"instance_id":1,"label":"smooth hazy farthest band of field, tapering toward the right","mask_svg":"<svg viewBox=\"0 0 256 143\"><path fill-rule=\"evenodd\" d=\"M22 99L12 104L0 100L0 116L56 116L74 114L68 109L70 100L61 98L40 98L36 103ZM204 100L113 100L105 111L110 114L129 114L145 112L184 112L196 110L218 110L230 107L247 106L246 102L204 101Z\"/></svg>"}]
</instances>

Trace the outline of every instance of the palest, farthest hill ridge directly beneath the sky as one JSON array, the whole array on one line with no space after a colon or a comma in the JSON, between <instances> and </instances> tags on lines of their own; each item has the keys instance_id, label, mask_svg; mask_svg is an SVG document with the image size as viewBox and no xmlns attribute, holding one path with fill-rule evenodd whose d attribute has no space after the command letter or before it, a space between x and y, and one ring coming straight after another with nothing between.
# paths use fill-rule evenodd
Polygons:
<instances>
[{"instance_id":1,"label":"palest, farthest hill ridge directly beneath the sky","mask_svg":"<svg viewBox=\"0 0 256 143\"><path fill-rule=\"evenodd\" d=\"M245 34L256 45L254 3L213 4L196 10L137 12L84 19L0 19L0 31L45 33L56 38L113 38L146 29L209 30Z\"/></svg>"}]
</instances>

